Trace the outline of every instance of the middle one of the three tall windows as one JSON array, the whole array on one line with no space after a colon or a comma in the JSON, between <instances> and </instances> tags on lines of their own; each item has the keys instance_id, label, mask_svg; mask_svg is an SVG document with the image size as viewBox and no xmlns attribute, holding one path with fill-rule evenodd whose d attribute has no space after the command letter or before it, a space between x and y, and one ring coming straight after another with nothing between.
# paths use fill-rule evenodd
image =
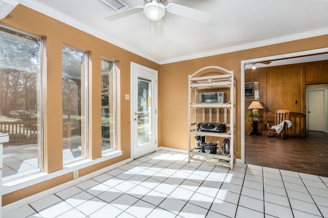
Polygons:
<instances>
[{"instance_id":1,"label":"middle one of the three tall windows","mask_svg":"<svg viewBox=\"0 0 328 218\"><path fill-rule=\"evenodd\" d=\"M87 53L63 47L63 162L87 158Z\"/></svg>"}]
</instances>

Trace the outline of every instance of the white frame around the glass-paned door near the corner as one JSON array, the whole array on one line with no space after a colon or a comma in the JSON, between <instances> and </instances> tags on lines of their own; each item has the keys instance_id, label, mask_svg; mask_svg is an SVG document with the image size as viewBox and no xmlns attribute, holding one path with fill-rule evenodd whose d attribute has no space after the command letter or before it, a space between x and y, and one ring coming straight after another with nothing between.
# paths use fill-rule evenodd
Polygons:
<instances>
[{"instance_id":1,"label":"white frame around the glass-paned door near the corner","mask_svg":"<svg viewBox=\"0 0 328 218\"><path fill-rule=\"evenodd\" d=\"M155 113L153 114L153 119L154 119L154 127L153 127L153 132L152 132L152 136L154 137L155 139L155 144L154 144L154 150L156 151L158 149L158 71L154 70L154 69L151 69L151 68L148 68L148 67L145 67L145 66L142 66L141 64L138 64L138 63L135 63L135 62L132 62L131 61L131 65L130 65L130 136L131 136L131 158L134 160L135 157L134 157L134 137L133 137L133 125L134 125L134 121L133 121L133 117L134 117L134 108L133 108L133 105L134 105L134 101L135 99L132 98L133 96L133 92L134 92L134 81L133 81L133 74L134 74L134 69L135 68L139 68L139 69L142 69L142 70L145 70L145 71L149 71L151 73L154 73L155 74L155 80L156 82L154 83L155 85L155 93L153 94L153 96L155 98L152 98L152 103L153 103L153 106L154 106L154 109L155 109Z\"/></svg>"}]
</instances>

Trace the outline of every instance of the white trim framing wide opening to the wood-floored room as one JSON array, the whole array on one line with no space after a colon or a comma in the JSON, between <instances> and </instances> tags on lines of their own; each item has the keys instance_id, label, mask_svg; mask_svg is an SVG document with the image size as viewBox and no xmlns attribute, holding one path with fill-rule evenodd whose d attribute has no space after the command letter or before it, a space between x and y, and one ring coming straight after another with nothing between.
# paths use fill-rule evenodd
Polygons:
<instances>
[{"instance_id":1,"label":"white trim framing wide opening to the wood-floored room","mask_svg":"<svg viewBox=\"0 0 328 218\"><path fill-rule=\"evenodd\" d=\"M302 52L288 53L288 54L280 54L268 57L260 57L248 60L240 61L240 160L238 162L245 163L245 64L261 62L267 60L274 60L280 58L291 58L302 55L312 55L328 52L328 48L322 49L314 49Z\"/></svg>"}]
</instances>

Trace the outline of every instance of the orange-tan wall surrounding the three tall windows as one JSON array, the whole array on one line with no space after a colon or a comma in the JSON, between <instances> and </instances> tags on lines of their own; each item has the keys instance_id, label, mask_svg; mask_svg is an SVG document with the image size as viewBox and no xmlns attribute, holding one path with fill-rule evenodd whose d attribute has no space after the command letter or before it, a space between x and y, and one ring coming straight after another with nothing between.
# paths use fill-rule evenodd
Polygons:
<instances>
[{"instance_id":1,"label":"orange-tan wall surrounding the three tall windows","mask_svg":"<svg viewBox=\"0 0 328 218\"><path fill-rule=\"evenodd\" d=\"M101 156L101 57L117 61L120 77L118 84L118 137L117 147L123 151L121 157L79 170L83 176L92 171L130 158L130 101L125 100L130 93L130 63L131 61L159 71L159 64L146 58L128 52L104 40L96 38L83 31L59 22L44 14L18 5L5 19L0 19L0 25L14 28L28 34L44 38L44 171L53 172L63 168L62 117L58 108L61 107L61 52L62 46L89 52L89 158ZM99 129L99 131L95 131ZM64 175L33 187L24 188L3 196L3 205L15 202L29 195L49 189L70 181L73 176Z\"/></svg>"}]
</instances>

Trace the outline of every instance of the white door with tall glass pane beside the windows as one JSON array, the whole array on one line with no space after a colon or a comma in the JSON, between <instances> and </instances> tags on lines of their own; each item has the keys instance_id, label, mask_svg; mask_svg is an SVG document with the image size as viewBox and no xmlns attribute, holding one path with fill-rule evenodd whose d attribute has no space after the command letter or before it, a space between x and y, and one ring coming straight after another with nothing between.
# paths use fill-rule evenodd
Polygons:
<instances>
[{"instance_id":1,"label":"white door with tall glass pane beside the windows","mask_svg":"<svg viewBox=\"0 0 328 218\"><path fill-rule=\"evenodd\" d=\"M131 62L131 145L133 159L156 151L157 71Z\"/></svg>"}]
</instances>

